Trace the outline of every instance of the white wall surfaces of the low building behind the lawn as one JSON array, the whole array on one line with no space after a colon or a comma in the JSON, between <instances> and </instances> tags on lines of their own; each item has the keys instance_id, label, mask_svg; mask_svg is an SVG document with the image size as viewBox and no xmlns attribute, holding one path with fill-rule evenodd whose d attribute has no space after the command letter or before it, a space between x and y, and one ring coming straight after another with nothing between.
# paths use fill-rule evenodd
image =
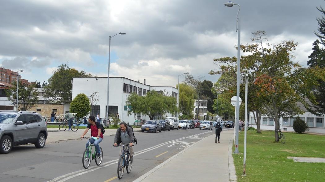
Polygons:
<instances>
[{"instance_id":1,"label":"white wall surfaces of the low building behind the lawn","mask_svg":"<svg viewBox=\"0 0 325 182\"><path fill-rule=\"evenodd\" d=\"M256 114L255 114L255 116L256 116ZM309 131L306 131L305 133L322 133L322 134L325 134L325 115L324 116L316 116L314 114L311 114L310 112L305 112L302 115L295 115L295 116L293 116L291 118L296 118L298 116L300 118L302 118L303 120L305 120L305 122L307 121L307 118L314 118L314 127L309 126ZM262 124L263 123L263 117L267 117L267 116L262 116L260 129L261 130L272 130L272 131L274 131L275 130L275 124L273 124L273 125L264 125L264 124ZM322 127L315 127L316 126L316 118L323 118L323 126ZM287 131L294 131L292 126L285 126L285 125L283 125L282 121L283 121L283 118L280 118L280 129L283 130L283 128L287 128ZM288 123L289 123L288 125L290 125L290 118L288 118ZM252 112L250 112L250 125L252 125L254 128L256 128L256 124L255 124Z\"/></svg>"}]
</instances>

